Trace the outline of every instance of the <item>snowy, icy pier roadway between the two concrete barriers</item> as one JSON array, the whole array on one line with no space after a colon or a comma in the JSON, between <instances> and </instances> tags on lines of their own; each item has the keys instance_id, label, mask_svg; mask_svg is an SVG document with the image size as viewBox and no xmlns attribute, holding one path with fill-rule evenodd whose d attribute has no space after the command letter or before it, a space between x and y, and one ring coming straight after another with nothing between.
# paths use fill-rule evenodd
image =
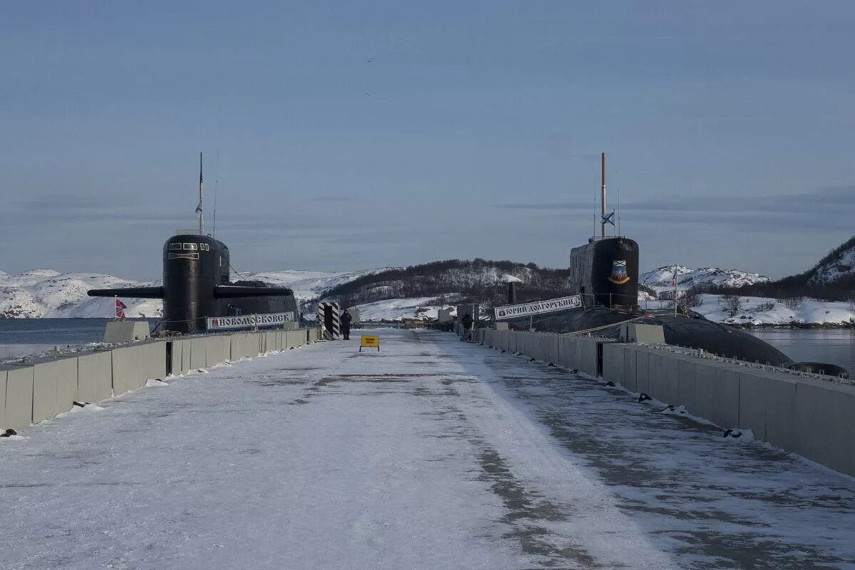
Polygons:
<instances>
[{"instance_id":1,"label":"snowy, icy pier roadway between the two concrete barriers","mask_svg":"<svg viewBox=\"0 0 855 570\"><path fill-rule=\"evenodd\" d=\"M853 479L451 334L379 334L0 440L0 568L855 567Z\"/></svg>"}]
</instances>

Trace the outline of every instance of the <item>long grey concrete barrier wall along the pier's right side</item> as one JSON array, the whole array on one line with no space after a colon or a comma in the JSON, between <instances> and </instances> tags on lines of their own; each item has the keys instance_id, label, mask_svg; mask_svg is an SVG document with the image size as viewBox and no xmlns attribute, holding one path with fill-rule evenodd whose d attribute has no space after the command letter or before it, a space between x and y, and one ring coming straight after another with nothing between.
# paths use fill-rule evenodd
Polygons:
<instances>
[{"instance_id":1,"label":"long grey concrete barrier wall along the pier's right side","mask_svg":"<svg viewBox=\"0 0 855 570\"><path fill-rule=\"evenodd\" d=\"M522 331L488 331L484 344L593 375L597 344ZM711 361L635 344L603 344L603 378L722 428L855 476L855 386Z\"/></svg>"}]
</instances>

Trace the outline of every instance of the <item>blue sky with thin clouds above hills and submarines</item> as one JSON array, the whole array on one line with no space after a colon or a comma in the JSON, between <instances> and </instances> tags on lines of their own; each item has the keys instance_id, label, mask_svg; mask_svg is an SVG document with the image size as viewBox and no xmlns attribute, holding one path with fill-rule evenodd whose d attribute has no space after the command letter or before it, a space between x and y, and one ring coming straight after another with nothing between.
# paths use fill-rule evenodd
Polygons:
<instances>
[{"instance_id":1,"label":"blue sky with thin clouds above hills and submarines","mask_svg":"<svg viewBox=\"0 0 855 570\"><path fill-rule=\"evenodd\" d=\"M156 278L200 150L239 270L565 267L605 151L643 269L799 272L852 235L853 38L848 2L9 5L0 270Z\"/></svg>"}]
</instances>

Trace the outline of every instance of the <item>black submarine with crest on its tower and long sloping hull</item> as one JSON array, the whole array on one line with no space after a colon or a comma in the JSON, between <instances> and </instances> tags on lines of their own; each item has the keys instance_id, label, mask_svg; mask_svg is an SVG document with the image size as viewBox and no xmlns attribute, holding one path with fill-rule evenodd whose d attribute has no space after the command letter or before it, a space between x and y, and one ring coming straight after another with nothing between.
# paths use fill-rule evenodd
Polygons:
<instances>
[{"instance_id":1,"label":"black submarine with crest on its tower and long sloping hull","mask_svg":"<svg viewBox=\"0 0 855 570\"><path fill-rule=\"evenodd\" d=\"M621 325L662 326L666 344L700 349L740 361L759 362L807 373L848 378L844 367L823 362L797 362L734 326L706 319L691 310L674 313L643 311L638 303L639 245L623 236L607 236L612 214L605 213L605 153L602 155L601 234L570 250L569 293L581 297L581 307L537 317L545 332L591 332L619 338ZM528 319L509 320L510 326L528 329Z\"/></svg>"}]
</instances>

